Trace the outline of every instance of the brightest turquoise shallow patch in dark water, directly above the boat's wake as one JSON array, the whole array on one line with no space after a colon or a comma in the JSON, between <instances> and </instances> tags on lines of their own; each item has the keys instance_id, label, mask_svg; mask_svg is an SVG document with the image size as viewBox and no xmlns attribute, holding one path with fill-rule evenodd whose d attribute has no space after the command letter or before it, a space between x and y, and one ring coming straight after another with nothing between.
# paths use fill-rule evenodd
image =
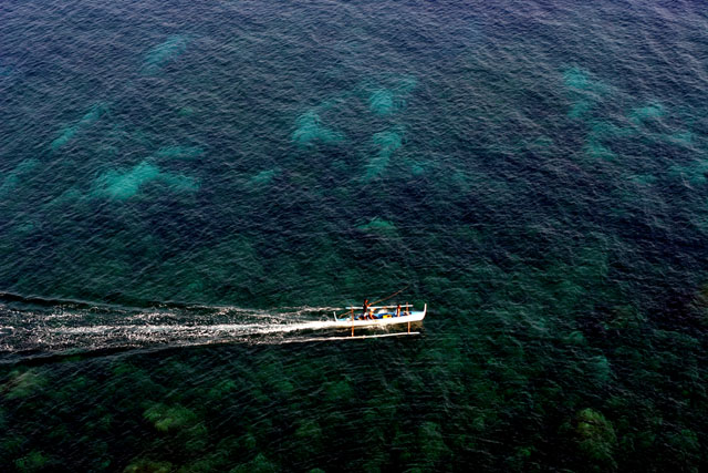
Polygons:
<instances>
[{"instance_id":1,"label":"brightest turquoise shallow patch in dark water, directly above the boat's wake","mask_svg":"<svg viewBox=\"0 0 708 473\"><path fill-rule=\"evenodd\" d=\"M94 195L125 200L153 182L160 182L176 192L194 192L199 188L196 179L162 172L157 165L144 161L129 171L108 171L101 175L94 185Z\"/></svg>"}]
</instances>

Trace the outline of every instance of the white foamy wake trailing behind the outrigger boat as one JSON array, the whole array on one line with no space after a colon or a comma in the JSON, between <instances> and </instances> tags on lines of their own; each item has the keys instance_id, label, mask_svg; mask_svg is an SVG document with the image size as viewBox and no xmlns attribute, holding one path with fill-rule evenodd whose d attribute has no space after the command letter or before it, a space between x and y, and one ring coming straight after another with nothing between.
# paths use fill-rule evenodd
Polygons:
<instances>
[{"instance_id":1,"label":"white foamy wake trailing behind the outrigger boat","mask_svg":"<svg viewBox=\"0 0 708 473\"><path fill-rule=\"evenodd\" d=\"M336 327L332 312L342 308L251 310L162 305L135 309L76 301L6 300L0 301L0 363L67 352L351 338Z\"/></svg>"}]
</instances>

